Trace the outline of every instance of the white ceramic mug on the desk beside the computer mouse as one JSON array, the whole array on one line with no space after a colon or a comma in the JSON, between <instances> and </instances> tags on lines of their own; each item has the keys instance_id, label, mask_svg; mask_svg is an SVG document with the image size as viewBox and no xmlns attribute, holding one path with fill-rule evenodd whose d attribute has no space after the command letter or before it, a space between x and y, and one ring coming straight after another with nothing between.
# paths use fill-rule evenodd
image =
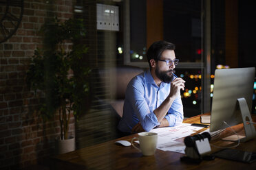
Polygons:
<instances>
[{"instance_id":1,"label":"white ceramic mug on the desk beside the computer mouse","mask_svg":"<svg viewBox=\"0 0 256 170\"><path fill-rule=\"evenodd\" d=\"M140 142L140 148L134 145L134 141ZM156 152L156 145L158 144L158 134L153 132L140 132L138 138L131 139L131 145L141 151L145 156L151 156Z\"/></svg>"}]
</instances>

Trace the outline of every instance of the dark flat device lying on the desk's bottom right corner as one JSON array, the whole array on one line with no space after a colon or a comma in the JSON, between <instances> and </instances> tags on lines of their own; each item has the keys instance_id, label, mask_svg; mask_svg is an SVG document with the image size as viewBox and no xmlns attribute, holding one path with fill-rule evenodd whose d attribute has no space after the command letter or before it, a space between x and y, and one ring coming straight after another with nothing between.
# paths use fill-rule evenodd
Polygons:
<instances>
[{"instance_id":1,"label":"dark flat device lying on the desk's bottom right corner","mask_svg":"<svg viewBox=\"0 0 256 170\"><path fill-rule=\"evenodd\" d=\"M256 152L241 151L237 149L223 149L213 154L217 158L224 158L228 160L236 160L240 162L250 163L256 160Z\"/></svg>"}]
</instances>

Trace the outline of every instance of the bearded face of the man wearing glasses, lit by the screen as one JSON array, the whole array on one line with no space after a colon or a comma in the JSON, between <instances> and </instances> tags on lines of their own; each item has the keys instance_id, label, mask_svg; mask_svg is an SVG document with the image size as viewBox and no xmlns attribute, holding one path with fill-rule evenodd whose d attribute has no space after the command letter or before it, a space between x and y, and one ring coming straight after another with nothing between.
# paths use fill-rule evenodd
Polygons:
<instances>
[{"instance_id":1,"label":"bearded face of the man wearing glasses, lit by the screen","mask_svg":"<svg viewBox=\"0 0 256 170\"><path fill-rule=\"evenodd\" d=\"M175 53L173 50L166 49L162 52L161 60L174 60ZM169 83L173 80L173 74L175 69L175 65L173 62L167 65L167 62L158 60L156 64L156 76L164 83Z\"/></svg>"}]
</instances>

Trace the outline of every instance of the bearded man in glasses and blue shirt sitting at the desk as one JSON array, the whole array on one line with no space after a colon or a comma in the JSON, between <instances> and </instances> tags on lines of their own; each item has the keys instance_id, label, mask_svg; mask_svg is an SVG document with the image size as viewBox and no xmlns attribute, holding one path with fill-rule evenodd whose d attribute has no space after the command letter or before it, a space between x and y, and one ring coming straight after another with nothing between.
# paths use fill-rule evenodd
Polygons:
<instances>
[{"instance_id":1,"label":"bearded man in glasses and blue shirt sitting at the desk","mask_svg":"<svg viewBox=\"0 0 256 170\"><path fill-rule=\"evenodd\" d=\"M154 42L147 51L150 69L134 77L127 86L118 130L125 134L174 126L183 121L180 89L185 81L173 75L178 64L175 45Z\"/></svg>"}]
</instances>

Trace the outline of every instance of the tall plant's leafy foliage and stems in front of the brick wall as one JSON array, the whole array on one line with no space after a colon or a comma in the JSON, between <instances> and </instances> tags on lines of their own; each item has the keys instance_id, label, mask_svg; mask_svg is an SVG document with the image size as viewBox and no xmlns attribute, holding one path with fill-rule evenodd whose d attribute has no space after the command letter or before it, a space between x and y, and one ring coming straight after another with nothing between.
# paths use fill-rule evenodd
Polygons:
<instances>
[{"instance_id":1,"label":"tall plant's leafy foliage and stems in front of the brick wall","mask_svg":"<svg viewBox=\"0 0 256 170\"><path fill-rule=\"evenodd\" d=\"M85 111L89 95L89 72L85 62L87 47L85 25L81 19L47 21L40 29L43 47L34 51L27 73L27 82L43 98L39 104L43 120L49 120L58 112L60 139L67 140L70 114L77 119ZM71 47L68 49L68 47ZM74 138L72 139L74 141ZM67 151L62 151L67 152Z\"/></svg>"}]
</instances>

